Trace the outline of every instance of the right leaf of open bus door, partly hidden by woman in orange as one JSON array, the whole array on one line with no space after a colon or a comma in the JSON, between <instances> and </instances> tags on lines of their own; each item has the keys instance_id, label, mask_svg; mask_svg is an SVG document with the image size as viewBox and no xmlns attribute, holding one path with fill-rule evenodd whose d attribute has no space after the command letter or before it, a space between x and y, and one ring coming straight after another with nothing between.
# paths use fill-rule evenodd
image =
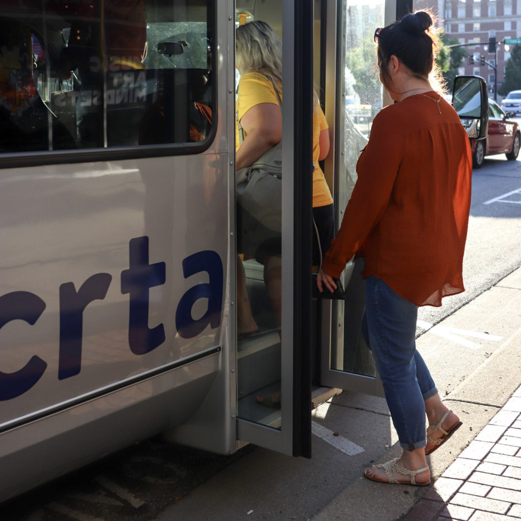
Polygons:
<instances>
[{"instance_id":1,"label":"right leaf of open bus door, partly hidden by woman in orange","mask_svg":"<svg viewBox=\"0 0 521 521\"><path fill-rule=\"evenodd\" d=\"M371 123L389 100L376 72L374 32L396 19L395 0L325 2L327 28L321 62L325 64L324 100L335 154L325 175L334 194L337 222L356 182L356 163L369 138ZM386 93L387 94L387 93ZM331 125L334 122L334 125ZM363 260L352 259L342 276L345 301L323 301L320 383L383 396L373 356L360 331L364 311Z\"/></svg>"}]
</instances>

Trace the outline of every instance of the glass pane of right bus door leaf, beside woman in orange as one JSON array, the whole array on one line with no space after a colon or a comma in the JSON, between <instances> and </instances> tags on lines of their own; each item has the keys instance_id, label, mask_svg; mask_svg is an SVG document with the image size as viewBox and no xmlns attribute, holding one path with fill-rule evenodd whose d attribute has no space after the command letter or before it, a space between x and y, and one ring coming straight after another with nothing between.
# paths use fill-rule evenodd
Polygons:
<instances>
[{"instance_id":1,"label":"glass pane of right bus door leaf, beside woman in orange","mask_svg":"<svg viewBox=\"0 0 521 521\"><path fill-rule=\"evenodd\" d=\"M344 57L339 75L335 208L338 222L353 191L356 162L369 138L375 115L382 108L382 86L376 71L374 32L384 26L384 2L343 2L343 30L339 32L337 55ZM364 281L359 276L362 259L348 264L344 272L346 299L333 301L331 369L375 376L373 357L360 332L364 311Z\"/></svg>"}]
</instances>

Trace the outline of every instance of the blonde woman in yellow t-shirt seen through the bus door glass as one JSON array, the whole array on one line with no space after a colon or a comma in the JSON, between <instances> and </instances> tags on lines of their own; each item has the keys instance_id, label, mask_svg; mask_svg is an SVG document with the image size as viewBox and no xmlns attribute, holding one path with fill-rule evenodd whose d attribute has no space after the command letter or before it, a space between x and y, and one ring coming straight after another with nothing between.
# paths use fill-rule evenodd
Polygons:
<instances>
[{"instance_id":1,"label":"blonde woman in yellow t-shirt seen through the bus door glass","mask_svg":"<svg viewBox=\"0 0 521 521\"><path fill-rule=\"evenodd\" d=\"M282 139L282 114L277 98L282 94L282 42L267 23L253 21L235 31L235 64L241 74L237 96L235 168L250 166ZM275 91L277 89L277 92ZM239 133L241 127L241 134ZM238 207L238 252L264 265L266 293L280 328L281 238ZM266 232L266 233L263 233ZM242 263L237 262L239 337L257 330L248 301Z\"/></svg>"}]
</instances>

